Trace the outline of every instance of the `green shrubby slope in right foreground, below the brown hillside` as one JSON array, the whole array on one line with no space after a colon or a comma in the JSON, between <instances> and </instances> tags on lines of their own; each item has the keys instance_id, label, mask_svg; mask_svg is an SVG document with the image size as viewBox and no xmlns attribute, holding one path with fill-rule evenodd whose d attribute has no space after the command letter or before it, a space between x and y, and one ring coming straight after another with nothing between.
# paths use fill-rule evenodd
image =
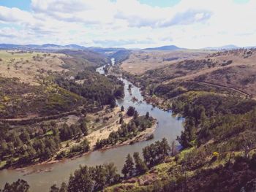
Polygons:
<instances>
[{"instance_id":1,"label":"green shrubby slope in right foreground, below the brown hillside","mask_svg":"<svg viewBox=\"0 0 256 192\"><path fill-rule=\"evenodd\" d=\"M145 147L143 157L151 169L106 191L254 190L255 107L255 101L239 97L181 94L173 100L173 112L186 117L178 137L184 149L173 158L162 153L165 164L155 166L159 142ZM129 170L124 166L123 173Z\"/></svg>"}]
</instances>

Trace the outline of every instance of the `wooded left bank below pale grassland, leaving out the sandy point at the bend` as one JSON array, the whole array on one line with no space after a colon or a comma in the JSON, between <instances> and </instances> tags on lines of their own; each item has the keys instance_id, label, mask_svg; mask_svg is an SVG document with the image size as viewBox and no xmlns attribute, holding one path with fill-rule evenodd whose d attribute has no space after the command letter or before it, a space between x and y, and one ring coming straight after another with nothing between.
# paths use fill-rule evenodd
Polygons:
<instances>
[{"instance_id":1,"label":"wooded left bank below pale grassland, leaving out the sandy point at the bend","mask_svg":"<svg viewBox=\"0 0 256 192\"><path fill-rule=\"evenodd\" d=\"M15 78L0 78L1 169L72 157L89 151L84 115L116 107L124 96L124 85L116 77L105 77L94 69L78 72L73 79L62 72L29 85ZM78 123L56 124L67 115L78 115ZM29 118L32 116L32 118ZM68 145L75 139L78 144ZM61 150L64 143L70 149Z\"/></svg>"}]
</instances>

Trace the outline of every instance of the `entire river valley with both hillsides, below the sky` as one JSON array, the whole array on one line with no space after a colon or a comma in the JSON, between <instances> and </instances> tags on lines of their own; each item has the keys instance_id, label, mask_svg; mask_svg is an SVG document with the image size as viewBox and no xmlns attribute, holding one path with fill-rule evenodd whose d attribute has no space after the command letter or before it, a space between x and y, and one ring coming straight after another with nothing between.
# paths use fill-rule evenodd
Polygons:
<instances>
[{"instance_id":1,"label":"entire river valley with both hillsides, below the sky","mask_svg":"<svg viewBox=\"0 0 256 192\"><path fill-rule=\"evenodd\" d=\"M255 177L254 49L118 50L117 63L82 50L48 54L61 54L61 65L50 64L62 69L28 73L30 81L10 65L14 76L1 77L4 183L23 178L33 191L71 188L75 174L110 167L115 177L105 183L90 173L94 191L183 191L184 182L189 191L206 191L213 180L217 190L242 188ZM157 158L160 143L166 152ZM127 154L144 168L125 171Z\"/></svg>"}]
</instances>

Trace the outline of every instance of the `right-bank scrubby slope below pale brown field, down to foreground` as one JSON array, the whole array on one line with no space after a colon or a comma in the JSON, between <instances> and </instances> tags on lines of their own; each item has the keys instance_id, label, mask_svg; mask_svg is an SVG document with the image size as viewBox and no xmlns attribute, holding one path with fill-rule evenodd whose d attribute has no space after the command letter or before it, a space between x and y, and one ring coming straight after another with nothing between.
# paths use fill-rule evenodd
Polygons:
<instances>
[{"instance_id":1,"label":"right-bank scrubby slope below pale brown field, down to foreground","mask_svg":"<svg viewBox=\"0 0 256 192\"><path fill-rule=\"evenodd\" d=\"M238 53L244 54L244 51ZM234 53L224 54L227 54L225 57L228 59ZM200 63L195 63L195 67L197 65ZM175 157L167 158L164 164L155 166L146 174L113 185L105 191L252 189L249 182L253 182L256 177L256 101L246 99L236 91L197 82L162 83L157 81L158 78L165 77L161 75L162 72L158 73L157 70L151 76L146 72L137 77L128 74L128 77L143 85L146 95L156 98L156 104L171 107L174 112L186 118L184 138L187 139L184 140L187 140L187 149ZM241 72L244 72L241 68L236 70L236 73ZM223 73L226 74L225 71ZM241 77L245 78L246 75L242 74ZM207 78L211 80L211 76ZM231 78L230 84L236 83ZM252 90L253 85L247 85ZM203 106L205 118L195 118L198 106ZM197 120L196 125L193 125L192 122Z\"/></svg>"}]
</instances>

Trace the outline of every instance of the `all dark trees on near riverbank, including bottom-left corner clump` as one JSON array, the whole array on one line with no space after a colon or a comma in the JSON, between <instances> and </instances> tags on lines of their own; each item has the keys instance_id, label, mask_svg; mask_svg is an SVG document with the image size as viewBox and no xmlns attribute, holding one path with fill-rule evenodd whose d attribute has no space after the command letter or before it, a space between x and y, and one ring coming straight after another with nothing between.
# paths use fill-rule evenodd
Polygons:
<instances>
[{"instance_id":1,"label":"all dark trees on near riverbank, including bottom-left corner clump","mask_svg":"<svg viewBox=\"0 0 256 192\"><path fill-rule=\"evenodd\" d=\"M150 152L150 153L148 153ZM121 170L124 177L117 172L115 164L99 166L80 166L73 174L70 174L67 183L56 184L50 187L50 192L91 192L102 191L109 185L120 183L121 180L134 177L148 171L152 166L161 163L170 154L170 145L167 139L157 141L143 148L143 159L138 152L128 154L124 167ZM4 192L27 192L29 184L24 180L18 180L12 184L6 183Z\"/></svg>"}]
</instances>

